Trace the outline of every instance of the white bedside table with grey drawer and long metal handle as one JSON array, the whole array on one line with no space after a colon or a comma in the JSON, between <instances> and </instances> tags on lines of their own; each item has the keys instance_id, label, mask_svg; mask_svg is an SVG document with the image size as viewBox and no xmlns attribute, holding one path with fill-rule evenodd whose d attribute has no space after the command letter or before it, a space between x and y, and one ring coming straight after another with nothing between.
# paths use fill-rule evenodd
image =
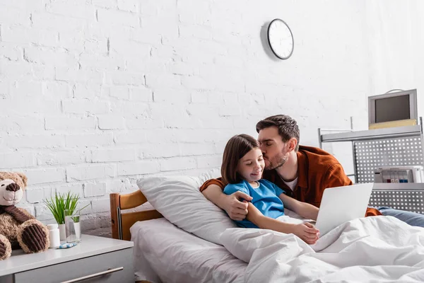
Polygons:
<instances>
[{"instance_id":1,"label":"white bedside table with grey drawer and long metal handle","mask_svg":"<svg viewBox=\"0 0 424 283\"><path fill-rule=\"evenodd\" d=\"M25 254L12 250L0 261L0 283L134 282L133 242L82 235L66 249Z\"/></svg>"}]
</instances>

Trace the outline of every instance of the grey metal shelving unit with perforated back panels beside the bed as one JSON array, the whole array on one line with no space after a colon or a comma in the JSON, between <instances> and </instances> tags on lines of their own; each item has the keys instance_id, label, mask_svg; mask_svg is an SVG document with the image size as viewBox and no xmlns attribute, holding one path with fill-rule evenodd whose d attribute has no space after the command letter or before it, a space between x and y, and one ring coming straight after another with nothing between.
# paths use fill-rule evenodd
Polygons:
<instances>
[{"instance_id":1,"label":"grey metal shelving unit with perforated back panels beside the bed","mask_svg":"<svg viewBox=\"0 0 424 283\"><path fill-rule=\"evenodd\" d=\"M377 167L424 165L422 122L416 126L358 132L322 134L322 131L318 129L320 147L324 142L352 142L355 183L373 183ZM370 206L389 206L424 214L424 184L376 183Z\"/></svg>"}]
</instances>

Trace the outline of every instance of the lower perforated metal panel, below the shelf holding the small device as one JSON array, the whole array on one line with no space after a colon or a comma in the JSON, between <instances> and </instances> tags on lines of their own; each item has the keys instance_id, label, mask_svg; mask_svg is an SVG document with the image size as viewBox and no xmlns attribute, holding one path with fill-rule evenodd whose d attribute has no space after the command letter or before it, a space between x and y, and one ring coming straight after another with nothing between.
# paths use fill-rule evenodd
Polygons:
<instances>
[{"instance_id":1,"label":"lower perforated metal panel, below the shelf holding the small device","mask_svg":"<svg viewBox=\"0 0 424 283\"><path fill-rule=\"evenodd\" d=\"M372 190L370 207L391 207L424 214L424 190Z\"/></svg>"}]
</instances>

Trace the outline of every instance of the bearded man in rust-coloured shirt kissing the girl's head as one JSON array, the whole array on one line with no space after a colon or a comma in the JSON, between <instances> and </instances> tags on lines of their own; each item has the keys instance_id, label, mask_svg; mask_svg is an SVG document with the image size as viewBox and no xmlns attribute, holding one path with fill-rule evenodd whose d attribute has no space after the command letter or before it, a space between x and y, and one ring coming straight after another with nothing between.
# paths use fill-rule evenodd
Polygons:
<instances>
[{"instance_id":1,"label":"bearded man in rust-coloured shirt kissing the girl's head","mask_svg":"<svg viewBox=\"0 0 424 283\"><path fill-rule=\"evenodd\" d=\"M331 154L310 146L299 146L297 122L287 115L275 115L257 123L258 140L264 155L263 178L285 190L301 202L319 207L327 187L352 185L343 167ZM224 209L231 219L242 220L247 215L247 202L252 198L243 192L225 195L221 178L208 180L200 190L204 196ZM391 215L414 226L424 227L424 215L395 209L368 208L366 216Z\"/></svg>"}]
</instances>

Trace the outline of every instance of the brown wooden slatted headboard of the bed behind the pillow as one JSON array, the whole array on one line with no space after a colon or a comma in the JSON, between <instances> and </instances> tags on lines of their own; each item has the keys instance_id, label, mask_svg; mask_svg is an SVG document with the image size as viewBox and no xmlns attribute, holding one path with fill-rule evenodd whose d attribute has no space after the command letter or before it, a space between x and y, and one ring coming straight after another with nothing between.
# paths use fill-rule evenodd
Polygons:
<instances>
[{"instance_id":1,"label":"brown wooden slatted headboard of the bed behind the pillow","mask_svg":"<svg viewBox=\"0 0 424 283\"><path fill-rule=\"evenodd\" d=\"M136 221L144 221L163 217L157 210L144 210L141 212L122 213L123 209L139 207L147 202L146 197L140 190L130 194L121 195L119 192L110 194L110 219L112 221L112 238L131 240L129 229Z\"/></svg>"}]
</instances>

